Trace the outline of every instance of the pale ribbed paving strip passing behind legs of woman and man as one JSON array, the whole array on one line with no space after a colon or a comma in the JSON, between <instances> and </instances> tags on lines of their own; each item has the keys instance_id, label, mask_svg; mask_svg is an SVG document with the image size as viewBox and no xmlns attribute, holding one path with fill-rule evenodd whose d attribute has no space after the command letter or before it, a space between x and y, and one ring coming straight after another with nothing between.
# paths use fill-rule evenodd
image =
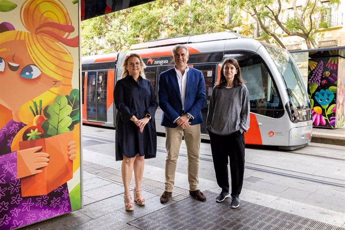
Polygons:
<instances>
[{"instance_id":1,"label":"pale ribbed paving strip passing behind legs of woman and man","mask_svg":"<svg viewBox=\"0 0 345 230\"><path fill-rule=\"evenodd\" d=\"M121 171L111 167L105 167L103 165L92 163L89 161L83 161L83 170L95 174L101 178L114 181L122 185ZM134 179L130 181L130 188L133 189L135 186ZM164 192L164 183L143 178L141 189L150 192L155 195L161 195ZM171 199L174 201L182 200L189 196L189 191L180 187L174 187Z\"/></svg>"}]
</instances>

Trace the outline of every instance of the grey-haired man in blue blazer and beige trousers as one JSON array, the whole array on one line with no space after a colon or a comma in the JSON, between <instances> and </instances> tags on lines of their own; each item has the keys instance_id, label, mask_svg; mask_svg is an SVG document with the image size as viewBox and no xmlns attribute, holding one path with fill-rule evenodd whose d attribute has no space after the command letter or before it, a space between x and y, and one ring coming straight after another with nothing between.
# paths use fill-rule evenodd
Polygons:
<instances>
[{"instance_id":1,"label":"grey-haired man in blue blazer and beige trousers","mask_svg":"<svg viewBox=\"0 0 345 230\"><path fill-rule=\"evenodd\" d=\"M158 99L164 112L161 125L165 126L167 151L165 160L165 189L160 202L166 203L172 194L176 162L184 136L188 156L189 194L205 201L205 195L198 188L201 109L205 104L205 81L200 70L189 67L188 48L175 45L172 49L174 67L159 75Z\"/></svg>"}]
</instances>

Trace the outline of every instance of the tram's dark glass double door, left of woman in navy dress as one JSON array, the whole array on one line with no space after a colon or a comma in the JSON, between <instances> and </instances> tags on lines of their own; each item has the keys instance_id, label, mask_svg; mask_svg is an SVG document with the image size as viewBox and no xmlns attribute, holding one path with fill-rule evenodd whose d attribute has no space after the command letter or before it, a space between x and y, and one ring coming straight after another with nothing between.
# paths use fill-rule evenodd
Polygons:
<instances>
[{"instance_id":1,"label":"tram's dark glass double door, left of woman in navy dress","mask_svg":"<svg viewBox=\"0 0 345 230\"><path fill-rule=\"evenodd\" d=\"M106 121L107 71L87 72L86 119Z\"/></svg>"}]
</instances>

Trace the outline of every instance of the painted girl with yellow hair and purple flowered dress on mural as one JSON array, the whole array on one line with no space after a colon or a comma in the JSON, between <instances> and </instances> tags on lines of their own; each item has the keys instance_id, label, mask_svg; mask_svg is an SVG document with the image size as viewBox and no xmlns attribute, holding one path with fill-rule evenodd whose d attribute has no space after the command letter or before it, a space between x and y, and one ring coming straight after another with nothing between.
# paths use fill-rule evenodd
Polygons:
<instances>
[{"instance_id":1,"label":"painted girl with yellow hair and purple flowered dress on mural","mask_svg":"<svg viewBox=\"0 0 345 230\"><path fill-rule=\"evenodd\" d=\"M23 181L43 175L49 164L60 164L54 161L54 152L48 151L48 141L45 146L35 145L35 141L52 136L53 115L49 110L70 94L73 59L66 47L76 47L78 39L68 37L74 28L66 7L58 0L24 1L20 21L27 31L15 30L10 22L1 23L0 30L0 229L72 210L66 181L51 191L44 192L43 185L31 188L32 192L40 191L39 195L30 195ZM65 120L70 123L71 119ZM71 134L63 139L64 147L57 148L69 165L77 156L78 143L73 139L78 140ZM20 147L24 142L31 147Z\"/></svg>"}]
</instances>

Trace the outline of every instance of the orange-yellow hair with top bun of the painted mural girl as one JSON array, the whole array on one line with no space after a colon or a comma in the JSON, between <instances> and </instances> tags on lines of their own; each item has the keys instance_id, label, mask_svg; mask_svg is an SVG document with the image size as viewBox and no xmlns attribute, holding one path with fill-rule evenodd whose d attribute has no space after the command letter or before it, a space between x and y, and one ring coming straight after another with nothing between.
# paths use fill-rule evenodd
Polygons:
<instances>
[{"instance_id":1,"label":"orange-yellow hair with top bun of the painted mural girl","mask_svg":"<svg viewBox=\"0 0 345 230\"><path fill-rule=\"evenodd\" d=\"M19 118L29 126L33 120L29 105L32 105L33 101L42 100L44 108L52 103L56 95L69 94L74 63L65 45L77 47L78 37L68 38L74 27L71 25L68 10L59 0L25 0L20 8L20 21L27 32L2 32L0 43L24 41L24 48L33 63L49 77L61 81L61 86L50 88L35 98L28 98L21 106ZM23 131L20 130L14 137L12 148L20 141Z\"/></svg>"}]
</instances>

